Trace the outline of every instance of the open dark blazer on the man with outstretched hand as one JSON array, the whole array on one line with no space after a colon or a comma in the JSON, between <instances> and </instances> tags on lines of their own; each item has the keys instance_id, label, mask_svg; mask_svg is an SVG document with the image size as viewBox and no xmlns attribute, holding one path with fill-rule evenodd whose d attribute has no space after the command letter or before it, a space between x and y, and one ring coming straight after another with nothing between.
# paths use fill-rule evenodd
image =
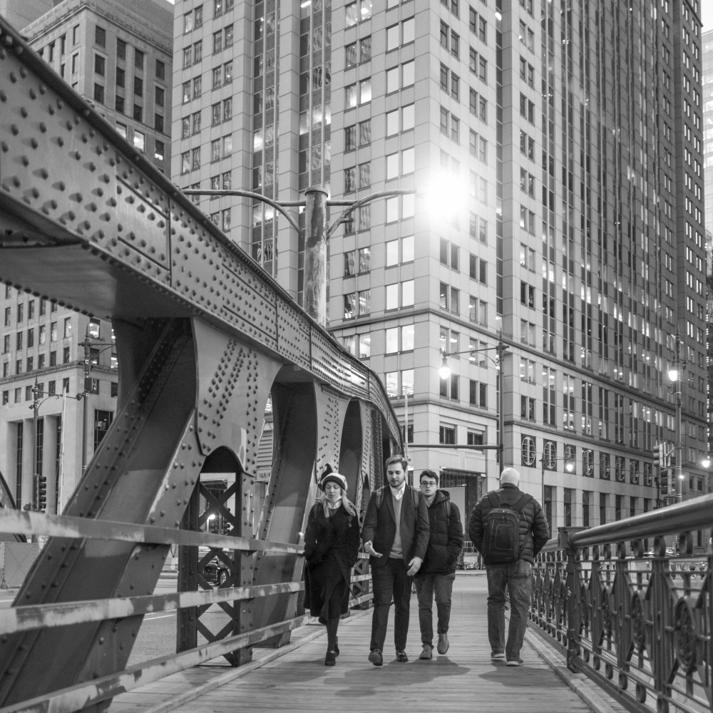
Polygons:
<instances>
[{"instance_id":1,"label":"open dark blazer on the man with outstretched hand","mask_svg":"<svg viewBox=\"0 0 713 713\"><path fill-rule=\"evenodd\" d=\"M416 491L419 506L416 508L414 494L406 484L404 499L401 503L401 547L404 550L404 563L411 562L414 557L424 558L426 547L429 544L429 509L426 507L426 500L419 491ZM361 540L365 544L371 542L376 552L381 557L369 558L372 567L385 567L389 562L391 545L396 537L396 515L394 514L394 498L391 496L391 488L382 488L381 506L376 508L376 493L371 493L369 504L366 506L364 515L364 528L361 530Z\"/></svg>"}]
</instances>

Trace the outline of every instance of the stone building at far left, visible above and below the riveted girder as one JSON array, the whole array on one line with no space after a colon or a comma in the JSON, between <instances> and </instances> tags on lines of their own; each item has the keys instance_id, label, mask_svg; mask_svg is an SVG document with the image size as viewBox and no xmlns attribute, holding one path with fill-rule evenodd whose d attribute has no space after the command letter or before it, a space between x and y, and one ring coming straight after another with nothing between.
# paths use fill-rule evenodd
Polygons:
<instances>
[{"instance_id":1,"label":"stone building at far left, visible above and below the riveted girder","mask_svg":"<svg viewBox=\"0 0 713 713\"><path fill-rule=\"evenodd\" d=\"M4 3L9 19L33 13L22 29L31 46L168 173L173 6L164 0ZM0 498L6 504L9 494L19 508L55 513L116 411L111 324L9 285L0 288L0 314Z\"/></svg>"}]
</instances>

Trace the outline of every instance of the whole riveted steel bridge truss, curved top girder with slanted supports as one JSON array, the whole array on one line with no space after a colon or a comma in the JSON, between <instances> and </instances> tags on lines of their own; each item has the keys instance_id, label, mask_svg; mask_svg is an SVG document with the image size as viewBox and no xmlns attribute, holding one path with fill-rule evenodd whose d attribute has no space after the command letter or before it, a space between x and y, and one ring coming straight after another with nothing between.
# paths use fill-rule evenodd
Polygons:
<instances>
[{"instance_id":1,"label":"whole riveted steel bridge truss, curved top girder with slanted supports","mask_svg":"<svg viewBox=\"0 0 713 713\"><path fill-rule=\"evenodd\" d=\"M359 404L362 416L373 412L383 429L374 451L400 440L379 379L1 18L0 250L2 282L112 319L116 332L118 413L66 514L137 527L200 525L189 503L200 474L222 453L237 478L240 513L236 507L232 528L295 543L317 467L342 456L349 404ZM270 394L275 462L254 533L246 484ZM369 453L369 478L381 455ZM150 593L167 551L51 538L16 603ZM182 584L198 585L194 566L186 560ZM235 583L286 582L299 567L295 555L243 555L231 575ZM231 630L265 625L291 602L289 595L263 597L239 619L233 611ZM122 670L140 622L135 615L4 638L0 705ZM182 635L187 642L194 633ZM50 665L58 659L61 667Z\"/></svg>"}]
</instances>

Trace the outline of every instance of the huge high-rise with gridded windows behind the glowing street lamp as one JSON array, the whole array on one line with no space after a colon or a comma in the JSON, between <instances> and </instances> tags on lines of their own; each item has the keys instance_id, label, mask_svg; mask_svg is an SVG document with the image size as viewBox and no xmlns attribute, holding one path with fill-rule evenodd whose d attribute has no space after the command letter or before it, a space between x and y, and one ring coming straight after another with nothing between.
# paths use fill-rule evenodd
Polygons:
<instances>
[{"instance_id":1,"label":"huge high-rise with gridded windows behind the glowing street lamp","mask_svg":"<svg viewBox=\"0 0 713 713\"><path fill-rule=\"evenodd\" d=\"M174 36L175 183L360 202L328 327L383 376L416 472L470 506L498 474L473 446L501 442L555 527L704 492L697 0L178 0ZM195 201L302 301L273 207Z\"/></svg>"}]
</instances>

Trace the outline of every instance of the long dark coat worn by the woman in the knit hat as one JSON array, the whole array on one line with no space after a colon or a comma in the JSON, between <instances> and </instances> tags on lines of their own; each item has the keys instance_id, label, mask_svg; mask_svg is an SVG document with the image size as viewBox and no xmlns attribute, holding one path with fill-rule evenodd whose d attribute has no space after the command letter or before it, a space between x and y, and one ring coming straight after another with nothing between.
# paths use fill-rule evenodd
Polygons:
<instances>
[{"instance_id":1,"label":"long dark coat worn by the woman in the knit hat","mask_svg":"<svg viewBox=\"0 0 713 713\"><path fill-rule=\"evenodd\" d=\"M304 608L327 620L349 611L349 583L359 552L359 520L340 506L331 518L317 503L304 534Z\"/></svg>"}]
</instances>

